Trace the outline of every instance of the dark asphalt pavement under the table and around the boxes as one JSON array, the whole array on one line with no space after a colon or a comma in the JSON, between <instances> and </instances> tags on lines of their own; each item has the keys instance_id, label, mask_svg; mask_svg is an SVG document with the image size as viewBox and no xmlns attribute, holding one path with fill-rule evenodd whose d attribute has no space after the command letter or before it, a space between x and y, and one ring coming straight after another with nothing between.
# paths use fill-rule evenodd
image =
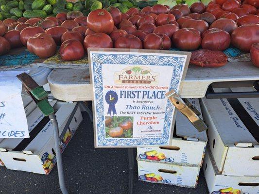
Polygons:
<instances>
[{"instance_id":1,"label":"dark asphalt pavement under the table and around the boxes","mask_svg":"<svg viewBox=\"0 0 259 194\"><path fill-rule=\"evenodd\" d=\"M83 117L62 155L69 194L127 194L127 149L94 148L93 124L86 113ZM196 189L181 188L139 181L135 162L134 194L208 194L202 170ZM61 194L57 167L50 175L0 167L0 194Z\"/></svg>"}]
</instances>

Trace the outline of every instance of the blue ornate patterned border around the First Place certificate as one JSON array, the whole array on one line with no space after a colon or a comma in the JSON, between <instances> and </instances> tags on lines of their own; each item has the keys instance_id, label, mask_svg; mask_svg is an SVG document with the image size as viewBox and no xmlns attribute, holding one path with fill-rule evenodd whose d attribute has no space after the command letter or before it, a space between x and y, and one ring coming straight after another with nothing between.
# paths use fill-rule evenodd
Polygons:
<instances>
[{"instance_id":1,"label":"blue ornate patterned border around the First Place certificate","mask_svg":"<svg viewBox=\"0 0 259 194\"><path fill-rule=\"evenodd\" d=\"M91 51L91 68L93 72L93 85L95 97L95 114L96 114L96 146L143 146L143 145L168 145L170 126L172 122L172 113L174 110L173 104L167 100L165 110L165 121L162 138L105 138L104 125L104 94L103 94L103 64L118 64L118 65L160 65L172 66L173 75L170 84L170 90L178 90L178 84L182 76L183 66L187 59L187 55L176 54L155 54L155 53L122 53L118 52L98 52Z\"/></svg>"}]
</instances>

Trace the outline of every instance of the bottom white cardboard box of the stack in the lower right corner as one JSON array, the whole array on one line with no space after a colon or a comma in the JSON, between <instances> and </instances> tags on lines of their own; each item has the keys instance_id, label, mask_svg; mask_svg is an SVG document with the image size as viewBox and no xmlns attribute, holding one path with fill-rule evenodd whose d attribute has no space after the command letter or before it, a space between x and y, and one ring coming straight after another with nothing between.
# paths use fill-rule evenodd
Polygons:
<instances>
[{"instance_id":1,"label":"bottom white cardboard box of the stack in the lower right corner","mask_svg":"<svg viewBox=\"0 0 259 194\"><path fill-rule=\"evenodd\" d=\"M203 171L209 194L259 194L259 177L221 175L209 149L206 150Z\"/></svg>"}]
</instances>

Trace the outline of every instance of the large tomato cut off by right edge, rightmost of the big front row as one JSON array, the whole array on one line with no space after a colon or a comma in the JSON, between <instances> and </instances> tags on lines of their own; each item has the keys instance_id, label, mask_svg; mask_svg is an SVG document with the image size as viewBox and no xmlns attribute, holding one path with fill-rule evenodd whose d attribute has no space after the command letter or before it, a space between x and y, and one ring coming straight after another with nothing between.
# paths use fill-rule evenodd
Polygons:
<instances>
[{"instance_id":1,"label":"large tomato cut off by right edge, rightmost of the big front row","mask_svg":"<svg viewBox=\"0 0 259 194\"><path fill-rule=\"evenodd\" d=\"M259 24L244 24L231 34L231 44L244 52L249 52L252 44L259 43Z\"/></svg>"}]
</instances>

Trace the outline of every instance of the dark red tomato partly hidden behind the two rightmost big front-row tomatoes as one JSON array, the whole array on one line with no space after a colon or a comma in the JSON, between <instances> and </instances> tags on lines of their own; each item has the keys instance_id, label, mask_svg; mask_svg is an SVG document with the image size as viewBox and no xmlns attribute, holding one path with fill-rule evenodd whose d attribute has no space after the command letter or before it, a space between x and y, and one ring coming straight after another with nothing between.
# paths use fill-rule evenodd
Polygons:
<instances>
[{"instance_id":1,"label":"dark red tomato partly hidden behind the two rightmost big front-row tomatoes","mask_svg":"<svg viewBox=\"0 0 259 194\"><path fill-rule=\"evenodd\" d=\"M237 27L237 23L232 19L220 18L214 21L209 28L218 28L231 34Z\"/></svg>"}]
</instances>

